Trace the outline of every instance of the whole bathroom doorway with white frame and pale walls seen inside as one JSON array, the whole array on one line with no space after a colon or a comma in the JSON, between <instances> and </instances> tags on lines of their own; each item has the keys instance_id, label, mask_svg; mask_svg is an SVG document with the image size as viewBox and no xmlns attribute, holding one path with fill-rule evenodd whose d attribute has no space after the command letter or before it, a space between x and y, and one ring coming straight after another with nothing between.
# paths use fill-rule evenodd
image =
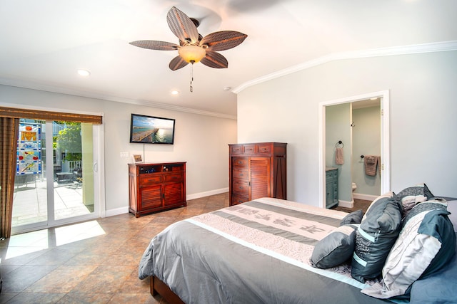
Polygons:
<instances>
[{"instance_id":1,"label":"whole bathroom doorway with white frame and pale walls seen inside","mask_svg":"<svg viewBox=\"0 0 457 304\"><path fill-rule=\"evenodd\" d=\"M319 104L319 147L321 147L319 187L322 206L326 206L328 196L328 189L326 189L328 169L338 169L339 206L352 208L353 197L373 199L389 191L388 101L388 90L386 90ZM373 122L373 120L377 121ZM338 157L343 157L338 159L342 162L339 164L336 159L338 148L342 153L338 154ZM374 176L365 174L365 155L378 157L379 162ZM355 192L353 192L354 183L357 187Z\"/></svg>"}]
</instances>

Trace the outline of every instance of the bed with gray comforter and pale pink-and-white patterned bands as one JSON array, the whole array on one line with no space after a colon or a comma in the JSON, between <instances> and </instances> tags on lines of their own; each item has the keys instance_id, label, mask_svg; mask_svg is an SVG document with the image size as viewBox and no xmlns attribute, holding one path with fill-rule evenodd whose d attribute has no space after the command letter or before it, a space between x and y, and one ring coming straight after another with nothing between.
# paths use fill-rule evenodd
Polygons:
<instances>
[{"instance_id":1,"label":"bed with gray comforter and pale pink-and-white patterned bands","mask_svg":"<svg viewBox=\"0 0 457 304\"><path fill-rule=\"evenodd\" d=\"M354 279L351 259L313 263L315 248L352 215L261 198L194 216L151 240L139 278L151 276L151 294L169 303L407 303L361 293L376 281Z\"/></svg>"}]
</instances>

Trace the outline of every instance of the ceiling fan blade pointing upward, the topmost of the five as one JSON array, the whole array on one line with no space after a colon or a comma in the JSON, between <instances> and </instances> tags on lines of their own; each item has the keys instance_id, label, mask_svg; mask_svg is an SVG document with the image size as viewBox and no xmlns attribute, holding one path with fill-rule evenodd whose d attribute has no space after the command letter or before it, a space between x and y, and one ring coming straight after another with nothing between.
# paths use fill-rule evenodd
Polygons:
<instances>
[{"instance_id":1,"label":"ceiling fan blade pointing upward, the topmost of the five","mask_svg":"<svg viewBox=\"0 0 457 304\"><path fill-rule=\"evenodd\" d=\"M194 22L176 7L173 6L166 14L166 22L179 40L190 43L199 41L199 31Z\"/></svg>"}]
</instances>

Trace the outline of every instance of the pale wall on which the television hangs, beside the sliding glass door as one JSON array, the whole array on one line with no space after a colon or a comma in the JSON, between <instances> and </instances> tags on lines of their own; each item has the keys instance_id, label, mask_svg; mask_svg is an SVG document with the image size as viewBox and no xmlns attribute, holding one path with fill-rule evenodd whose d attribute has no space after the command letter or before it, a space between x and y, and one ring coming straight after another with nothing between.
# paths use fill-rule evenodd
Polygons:
<instances>
[{"instance_id":1,"label":"pale wall on which the television hangs, beside the sliding glass door","mask_svg":"<svg viewBox=\"0 0 457 304\"><path fill-rule=\"evenodd\" d=\"M131 158L121 152L141 153L146 162L186 163L188 199L228 191L229 147L236 142L236 120L143 105L29 90L0 85L0 105L104 115L104 168L106 213L128 210ZM176 120L174 145L129 143L131 113Z\"/></svg>"}]
</instances>

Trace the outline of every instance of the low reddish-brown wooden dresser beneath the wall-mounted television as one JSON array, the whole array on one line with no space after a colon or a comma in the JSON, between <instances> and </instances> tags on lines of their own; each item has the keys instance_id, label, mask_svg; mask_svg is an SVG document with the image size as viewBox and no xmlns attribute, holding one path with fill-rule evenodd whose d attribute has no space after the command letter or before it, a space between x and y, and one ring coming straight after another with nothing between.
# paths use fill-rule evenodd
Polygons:
<instances>
[{"instance_id":1,"label":"low reddish-brown wooden dresser beneath the wall-mounted television","mask_svg":"<svg viewBox=\"0 0 457 304\"><path fill-rule=\"evenodd\" d=\"M186 162L129 164L129 211L136 217L187 206Z\"/></svg>"}]
</instances>

